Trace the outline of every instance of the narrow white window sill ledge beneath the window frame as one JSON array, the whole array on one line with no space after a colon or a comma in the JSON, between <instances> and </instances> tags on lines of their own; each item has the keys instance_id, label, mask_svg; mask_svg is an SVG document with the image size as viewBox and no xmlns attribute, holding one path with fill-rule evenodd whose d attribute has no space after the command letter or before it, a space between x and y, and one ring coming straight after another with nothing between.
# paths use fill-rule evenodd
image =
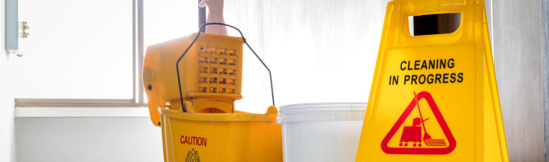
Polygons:
<instances>
[{"instance_id":1,"label":"narrow white window sill ledge beneath the window frame","mask_svg":"<svg viewBox=\"0 0 549 162\"><path fill-rule=\"evenodd\" d=\"M149 108L15 107L15 118L149 118Z\"/></svg>"}]
</instances>

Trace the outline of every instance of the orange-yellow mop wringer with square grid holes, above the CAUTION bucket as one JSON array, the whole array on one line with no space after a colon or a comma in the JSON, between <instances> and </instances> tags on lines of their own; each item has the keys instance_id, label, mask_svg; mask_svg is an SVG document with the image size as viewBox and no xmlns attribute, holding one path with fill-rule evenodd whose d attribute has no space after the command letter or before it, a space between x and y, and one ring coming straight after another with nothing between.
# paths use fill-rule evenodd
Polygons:
<instances>
[{"instance_id":1,"label":"orange-yellow mop wringer with square grid holes, above the CAUTION bucket","mask_svg":"<svg viewBox=\"0 0 549 162\"><path fill-rule=\"evenodd\" d=\"M197 33L193 33L147 47L143 86L150 120L156 126L160 124L158 107L166 103L176 110L181 107L175 64L196 36ZM243 43L240 37L200 33L179 63L183 100L199 103L194 105L196 111L216 108L233 113L234 100L242 98ZM212 102L205 104L204 101Z\"/></svg>"}]
</instances>

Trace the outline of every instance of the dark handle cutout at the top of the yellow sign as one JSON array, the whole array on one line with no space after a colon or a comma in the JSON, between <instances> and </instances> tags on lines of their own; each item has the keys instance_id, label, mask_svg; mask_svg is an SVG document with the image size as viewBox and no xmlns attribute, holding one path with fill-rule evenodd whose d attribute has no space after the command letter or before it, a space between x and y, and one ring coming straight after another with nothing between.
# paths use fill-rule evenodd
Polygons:
<instances>
[{"instance_id":1,"label":"dark handle cutout at the top of the yellow sign","mask_svg":"<svg viewBox=\"0 0 549 162\"><path fill-rule=\"evenodd\" d=\"M408 16L408 30L410 36L452 33L455 32L460 25L461 13ZM404 30L406 30L406 27Z\"/></svg>"}]
</instances>

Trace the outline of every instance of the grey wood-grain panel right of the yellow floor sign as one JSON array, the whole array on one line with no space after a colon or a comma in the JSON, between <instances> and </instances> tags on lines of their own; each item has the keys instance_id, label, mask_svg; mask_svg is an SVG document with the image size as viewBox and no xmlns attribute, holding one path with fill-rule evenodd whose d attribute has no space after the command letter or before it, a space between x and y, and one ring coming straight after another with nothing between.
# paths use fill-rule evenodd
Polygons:
<instances>
[{"instance_id":1,"label":"grey wood-grain panel right of the yellow floor sign","mask_svg":"<svg viewBox=\"0 0 549 162\"><path fill-rule=\"evenodd\" d=\"M539 0L494 1L494 57L510 161L545 161Z\"/></svg>"}]
</instances>

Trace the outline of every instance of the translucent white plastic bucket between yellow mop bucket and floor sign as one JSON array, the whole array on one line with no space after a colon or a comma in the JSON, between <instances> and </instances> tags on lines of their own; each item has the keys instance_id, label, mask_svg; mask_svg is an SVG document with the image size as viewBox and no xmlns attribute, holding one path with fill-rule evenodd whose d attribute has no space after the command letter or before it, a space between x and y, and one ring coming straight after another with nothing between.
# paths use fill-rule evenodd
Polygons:
<instances>
[{"instance_id":1,"label":"translucent white plastic bucket between yellow mop bucket and floor sign","mask_svg":"<svg viewBox=\"0 0 549 162\"><path fill-rule=\"evenodd\" d=\"M366 103L305 103L283 105L284 162L355 161Z\"/></svg>"}]
</instances>

